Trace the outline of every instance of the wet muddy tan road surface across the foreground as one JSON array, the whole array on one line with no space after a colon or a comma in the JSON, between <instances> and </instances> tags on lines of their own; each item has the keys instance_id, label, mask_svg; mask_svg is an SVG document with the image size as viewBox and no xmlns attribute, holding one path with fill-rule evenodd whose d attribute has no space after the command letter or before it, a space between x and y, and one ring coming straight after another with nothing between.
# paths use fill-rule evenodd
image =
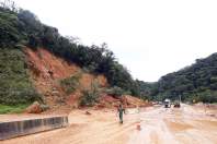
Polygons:
<instances>
[{"instance_id":1,"label":"wet muddy tan road surface across the foreground","mask_svg":"<svg viewBox=\"0 0 217 144\"><path fill-rule=\"evenodd\" d=\"M73 110L69 127L2 144L217 144L217 109L182 105L128 109L119 124L115 110Z\"/></svg>"}]
</instances>

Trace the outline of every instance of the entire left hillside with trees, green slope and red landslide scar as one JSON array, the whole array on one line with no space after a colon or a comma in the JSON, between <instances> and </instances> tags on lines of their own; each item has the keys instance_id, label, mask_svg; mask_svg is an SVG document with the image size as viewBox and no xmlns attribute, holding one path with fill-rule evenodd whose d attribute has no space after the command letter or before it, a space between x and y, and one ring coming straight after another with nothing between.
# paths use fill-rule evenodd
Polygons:
<instances>
[{"instance_id":1,"label":"entire left hillside with trees, green slope and red landslide scar","mask_svg":"<svg viewBox=\"0 0 217 144\"><path fill-rule=\"evenodd\" d=\"M106 44L81 45L13 5L0 7L0 105L37 100L58 109L93 106L100 99L112 107L127 98L129 106L130 100L142 104L122 98L139 96L138 85ZM106 99L113 101L104 104Z\"/></svg>"}]
</instances>

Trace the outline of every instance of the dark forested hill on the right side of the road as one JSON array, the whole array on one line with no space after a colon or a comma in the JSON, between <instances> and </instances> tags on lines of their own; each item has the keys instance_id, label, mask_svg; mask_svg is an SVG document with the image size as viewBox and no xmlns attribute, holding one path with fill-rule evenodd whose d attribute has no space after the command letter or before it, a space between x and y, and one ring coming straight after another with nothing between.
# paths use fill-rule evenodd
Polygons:
<instances>
[{"instance_id":1,"label":"dark forested hill on the right side of the road","mask_svg":"<svg viewBox=\"0 0 217 144\"><path fill-rule=\"evenodd\" d=\"M142 83L150 99L179 99L185 101L217 101L217 53L178 72L162 76L157 83ZM151 88L150 88L151 87Z\"/></svg>"}]
</instances>

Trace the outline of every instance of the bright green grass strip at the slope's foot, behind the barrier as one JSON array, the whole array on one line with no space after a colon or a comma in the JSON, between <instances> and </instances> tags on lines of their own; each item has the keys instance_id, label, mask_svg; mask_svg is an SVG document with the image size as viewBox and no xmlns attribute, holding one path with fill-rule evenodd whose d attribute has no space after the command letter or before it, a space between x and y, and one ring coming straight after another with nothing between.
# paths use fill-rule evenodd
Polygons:
<instances>
[{"instance_id":1,"label":"bright green grass strip at the slope's foot, behind the barrier","mask_svg":"<svg viewBox=\"0 0 217 144\"><path fill-rule=\"evenodd\" d=\"M3 113L21 113L27 108L28 104L20 104L20 105L2 105L0 104L0 115Z\"/></svg>"}]
</instances>

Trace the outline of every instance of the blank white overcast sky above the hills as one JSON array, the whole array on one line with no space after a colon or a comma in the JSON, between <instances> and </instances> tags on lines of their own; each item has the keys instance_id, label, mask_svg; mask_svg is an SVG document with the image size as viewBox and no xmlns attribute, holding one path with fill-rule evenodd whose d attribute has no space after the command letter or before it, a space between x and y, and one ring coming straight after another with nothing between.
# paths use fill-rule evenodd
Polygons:
<instances>
[{"instance_id":1,"label":"blank white overcast sky above the hills","mask_svg":"<svg viewBox=\"0 0 217 144\"><path fill-rule=\"evenodd\" d=\"M107 43L146 82L217 51L217 0L15 0L60 34Z\"/></svg>"}]
</instances>

